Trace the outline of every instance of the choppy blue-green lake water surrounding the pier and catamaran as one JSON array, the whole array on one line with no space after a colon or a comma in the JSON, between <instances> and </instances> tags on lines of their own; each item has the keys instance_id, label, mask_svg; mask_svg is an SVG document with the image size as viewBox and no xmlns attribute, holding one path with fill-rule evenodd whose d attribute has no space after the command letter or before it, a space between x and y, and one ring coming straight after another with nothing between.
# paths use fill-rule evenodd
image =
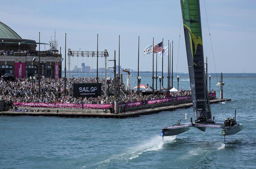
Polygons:
<instances>
[{"instance_id":1,"label":"choppy blue-green lake water surrounding the pier and catamaran","mask_svg":"<svg viewBox=\"0 0 256 169\"><path fill-rule=\"evenodd\" d=\"M188 74L178 74L179 88L189 89ZM152 84L151 73L140 76L141 84ZM162 142L161 127L180 118L181 122L188 122L185 113L188 119L194 119L192 108L127 119L0 116L0 168L254 169L256 79L249 77L256 74L248 73L247 78L240 78L243 73L225 76L231 78L223 79L223 96L232 101L211 104L212 114L215 120L224 121L233 117L236 109L236 121L244 125L241 132L226 137L226 146L221 129L215 128L206 132L191 128L177 137L164 137ZM218 81L211 79L211 89L216 90L217 97ZM176 80L173 84L177 88ZM135 85L132 83L132 87Z\"/></svg>"}]
</instances>

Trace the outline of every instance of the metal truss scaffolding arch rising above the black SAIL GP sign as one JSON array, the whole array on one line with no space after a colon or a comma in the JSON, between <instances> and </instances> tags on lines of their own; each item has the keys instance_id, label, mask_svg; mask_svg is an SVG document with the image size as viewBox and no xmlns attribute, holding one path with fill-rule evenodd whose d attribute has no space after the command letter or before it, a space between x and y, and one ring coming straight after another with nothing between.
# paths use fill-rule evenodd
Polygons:
<instances>
[{"instance_id":1,"label":"metal truss scaffolding arch rising above the black SAIL GP sign","mask_svg":"<svg viewBox=\"0 0 256 169\"><path fill-rule=\"evenodd\" d=\"M68 49L68 79L70 78L70 57L74 56L82 56L82 57L97 57L97 51L72 51L71 49ZM104 57L105 58L105 81L104 81L104 94L107 95L107 57L108 55L108 50L104 50L103 52L98 52L98 58L99 57Z\"/></svg>"}]
</instances>

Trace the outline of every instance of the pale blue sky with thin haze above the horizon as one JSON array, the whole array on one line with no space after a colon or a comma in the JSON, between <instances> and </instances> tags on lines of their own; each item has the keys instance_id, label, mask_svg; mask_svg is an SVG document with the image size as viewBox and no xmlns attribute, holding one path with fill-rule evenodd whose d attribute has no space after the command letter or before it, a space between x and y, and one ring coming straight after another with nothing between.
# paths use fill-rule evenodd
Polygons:
<instances>
[{"instance_id":1,"label":"pale blue sky with thin haze above the horizon","mask_svg":"<svg viewBox=\"0 0 256 169\"><path fill-rule=\"evenodd\" d=\"M217 72L256 73L256 1L205 1ZM208 57L208 72L215 67L204 9L200 1L204 56ZM56 29L56 39L64 56L65 33L67 49L107 49L109 59L118 56L118 35L121 37L120 65L137 70L138 36L140 36L140 70L152 70L152 56L143 50L152 43L164 46L173 40L174 71L188 72L184 32L181 27L180 1L0 1L0 20L24 39L49 42ZM178 46L180 48L178 58ZM44 46L41 46L44 50ZM46 46L49 49L49 45ZM167 72L165 57L164 71ZM78 60L81 67L82 58ZM158 58L158 70L162 66ZM84 58L87 65L96 67L96 58ZM77 65L77 58L71 58ZM103 65L99 59L99 67ZM112 67L111 63L108 63ZM64 66L63 66L64 67Z\"/></svg>"}]
</instances>

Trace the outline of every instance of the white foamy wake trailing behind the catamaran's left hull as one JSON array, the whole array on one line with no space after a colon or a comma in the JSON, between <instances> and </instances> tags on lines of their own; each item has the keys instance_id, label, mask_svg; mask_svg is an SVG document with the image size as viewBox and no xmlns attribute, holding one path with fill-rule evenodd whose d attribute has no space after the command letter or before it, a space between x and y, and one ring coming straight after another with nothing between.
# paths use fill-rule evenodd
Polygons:
<instances>
[{"instance_id":1,"label":"white foamy wake trailing behind the catamaran's left hull","mask_svg":"<svg viewBox=\"0 0 256 169\"><path fill-rule=\"evenodd\" d=\"M96 164L85 165L82 168L108 168L109 166L120 164L139 157L141 154L147 151L158 151L161 150L164 143L171 143L176 141L177 135L164 137L164 142L162 137L158 135L150 140L142 142L138 146L130 148L126 153L123 154L113 154L108 159L102 160Z\"/></svg>"}]
</instances>

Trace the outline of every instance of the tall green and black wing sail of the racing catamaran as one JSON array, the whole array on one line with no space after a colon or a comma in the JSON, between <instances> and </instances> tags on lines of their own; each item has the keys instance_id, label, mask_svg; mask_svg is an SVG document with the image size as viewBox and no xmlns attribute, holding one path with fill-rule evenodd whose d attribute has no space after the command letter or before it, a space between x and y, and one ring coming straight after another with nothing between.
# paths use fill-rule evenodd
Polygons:
<instances>
[{"instance_id":1,"label":"tall green and black wing sail of the racing catamaran","mask_svg":"<svg viewBox=\"0 0 256 169\"><path fill-rule=\"evenodd\" d=\"M195 122L214 122L206 88L199 0L180 0Z\"/></svg>"}]
</instances>

